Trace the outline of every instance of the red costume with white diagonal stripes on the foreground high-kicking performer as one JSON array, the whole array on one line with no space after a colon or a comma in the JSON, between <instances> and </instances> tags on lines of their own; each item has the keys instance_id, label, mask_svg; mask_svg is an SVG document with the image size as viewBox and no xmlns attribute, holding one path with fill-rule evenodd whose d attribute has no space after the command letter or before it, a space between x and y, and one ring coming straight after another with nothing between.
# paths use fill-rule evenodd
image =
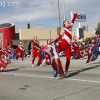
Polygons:
<instances>
[{"instance_id":1,"label":"red costume with white diagonal stripes on the foreground high-kicking performer","mask_svg":"<svg viewBox=\"0 0 100 100\"><path fill-rule=\"evenodd\" d=\"M72 24L74 24L76 18L76 14L74 14L74 17L72 19ZM71 57L71 41L72 41L72 29L70 27L64 27L64 36L62 39L62 35L59 35L59 37L55 41L59 41L62 39L61 43L58 46L58 52L65 51L66 53L66 66L65 66L65 72L68 71L69 64L70 64L70 57Z\"/></svg>"}]
</instances>

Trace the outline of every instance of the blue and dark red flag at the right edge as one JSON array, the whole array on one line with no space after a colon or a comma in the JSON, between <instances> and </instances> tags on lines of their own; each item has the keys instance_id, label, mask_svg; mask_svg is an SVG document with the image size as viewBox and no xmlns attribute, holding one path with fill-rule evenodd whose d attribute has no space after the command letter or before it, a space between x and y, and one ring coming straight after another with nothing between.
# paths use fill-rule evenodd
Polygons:
<instances>
[{"instance_id":1,"label":"blue and dark red flag at the right edge","mask_svg":"<svg viewBox=\"0 0 100 100\"><path fill-rule=\"evenodd\" d=\"M89 63L90 61L94 61L97 59L99 55L99 44L100 44L100 39L98 39L94 45L92 44L88 52L88 60L86 63Z\"/></svg>"}]
</instances>

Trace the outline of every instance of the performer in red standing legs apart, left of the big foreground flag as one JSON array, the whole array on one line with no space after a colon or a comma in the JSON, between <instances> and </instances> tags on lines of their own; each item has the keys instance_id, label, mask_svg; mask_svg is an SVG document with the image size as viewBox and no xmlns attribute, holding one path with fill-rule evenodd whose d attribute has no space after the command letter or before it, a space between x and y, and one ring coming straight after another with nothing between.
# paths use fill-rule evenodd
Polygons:
<instances>
[{"instance_id":1,"label":"performer in red standing legs apart, left of the big foreground flag","mask_svg":"<svg viewBox=\"0 0 100 100\"><path fill-rule=\"evenodd\" d=\"M37 37L34 37L34 42L32 44L32 47L33 47L33 52L32 52L32 54L33 54L33 57L32 57L32 67L35 67L34 61L35 61L36 57L38 57L40 66L42 66L42 61L41 61L41 47L39 45L39 41L37 40Z\"/></svg>"}]
</instances>

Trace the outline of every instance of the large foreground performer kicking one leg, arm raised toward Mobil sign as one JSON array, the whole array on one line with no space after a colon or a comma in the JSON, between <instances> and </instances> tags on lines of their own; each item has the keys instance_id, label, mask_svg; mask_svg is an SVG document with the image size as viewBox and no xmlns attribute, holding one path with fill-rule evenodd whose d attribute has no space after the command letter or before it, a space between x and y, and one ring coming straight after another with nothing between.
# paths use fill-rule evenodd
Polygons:
<instances>
[{"instance_id":1,"label":"large foreground performer kicking one leg, arm raised toward Mobil sign","mask_svg":"<svg viewBox=\"0 0 100 100\"><path fill-rule=\"evenodd\" d=\"M70 64L70 57L71 57L71 41L72 41L72 26L74 24L76 18L76 13L74 13L73 19L71 23L68 20L63 21L64 28L62 29L59 37L55 40L55 42L62 39L58 46L58 52L61 51L66 52L66 66L65 66L65 77L68 75L68 68Z\"/></svg>"}]
</instances>

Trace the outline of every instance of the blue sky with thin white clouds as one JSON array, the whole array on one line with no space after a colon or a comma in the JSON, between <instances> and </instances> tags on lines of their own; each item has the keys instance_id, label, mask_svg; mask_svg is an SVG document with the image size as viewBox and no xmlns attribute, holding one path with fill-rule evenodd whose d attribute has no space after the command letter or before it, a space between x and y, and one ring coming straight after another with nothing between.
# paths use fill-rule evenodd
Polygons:
<instances>
[{"instance_id":1,"label":"blue sky with thin white clouds","mask_svg":"<svg viewBox=\"0 0 100 100\"><path fill-rule=\"evenodd\" d=\"M59 6L61 25L64 12L71 21L71 11L86 12L86 22L81 22L81 27L88 26L88 31L93 31L100 22L100 0L59 0ZM31 28L57 29L58 0L0 0L0 24L3 23L14 23L16 33L20 28L27 28L28 23ZM78 27L76 21L73 31Z\"/></svg>"}]
</instances>

